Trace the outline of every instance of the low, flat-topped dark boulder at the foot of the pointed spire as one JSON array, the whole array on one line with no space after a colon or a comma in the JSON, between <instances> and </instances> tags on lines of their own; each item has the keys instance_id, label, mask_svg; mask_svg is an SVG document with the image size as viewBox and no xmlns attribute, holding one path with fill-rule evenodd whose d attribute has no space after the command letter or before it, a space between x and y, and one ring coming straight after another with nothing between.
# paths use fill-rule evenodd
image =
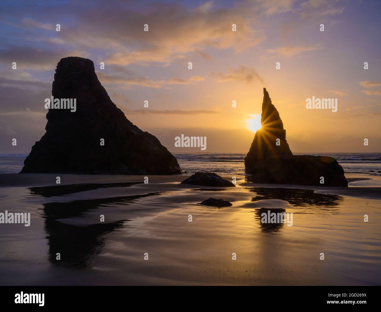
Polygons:
<instances>
[{"instance_id":1,"label":"low, flat-topped dark boulder at the foot of the pointed spire","mask_svg":"<svg viewBox=\"0 0 381 312\"><path fill-rule=\"evenodd\" d=\"M253 168L254 183L278 183L347 187L343 167L328 156L272 156L258 162ZM321 184L321 177L324 183Z\"/></svg>"}]
</instances>

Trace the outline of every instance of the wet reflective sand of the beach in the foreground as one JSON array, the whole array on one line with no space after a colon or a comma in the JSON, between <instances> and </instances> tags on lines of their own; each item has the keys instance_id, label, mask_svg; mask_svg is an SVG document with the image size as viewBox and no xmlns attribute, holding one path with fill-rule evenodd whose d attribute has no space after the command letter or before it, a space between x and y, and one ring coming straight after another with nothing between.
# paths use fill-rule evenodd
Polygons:
<instances>
[{"instance_id":1,"label":"wet reflective sand of the beach in the foreground","mask_svg":"<svg viewBox=\"0 0 381 312\"><path fill-rule=\"evenodd\" d=\"M0 225L1 285L381 284L379 177L210 188L179 183L189 175L56 176L0 175L0 212L31 214L30 227ZM209 197L233 206L197 204ZM268 210L293 212L293 226L261 223Z\"/></svg>"}]
</instances>

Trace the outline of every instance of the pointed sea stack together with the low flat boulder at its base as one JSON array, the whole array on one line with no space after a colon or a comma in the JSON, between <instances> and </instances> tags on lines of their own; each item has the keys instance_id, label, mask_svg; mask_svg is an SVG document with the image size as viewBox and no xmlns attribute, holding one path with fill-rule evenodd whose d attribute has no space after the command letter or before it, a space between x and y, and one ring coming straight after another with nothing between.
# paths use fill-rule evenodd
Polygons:
<instances>
[{"instance_id":1,"label":"pointed sea stack together with the low flat boulder at its base","mask_svg":"<svg viewBox=\"0 0 381 312\"><path fill-rule=\"evenodd\" d=\"M265 88L263 93L262 128L245 157L245 172L253 174L252 182L347 187L335 158L291 153L279 113Z\"/></svg>"}]
</instances>

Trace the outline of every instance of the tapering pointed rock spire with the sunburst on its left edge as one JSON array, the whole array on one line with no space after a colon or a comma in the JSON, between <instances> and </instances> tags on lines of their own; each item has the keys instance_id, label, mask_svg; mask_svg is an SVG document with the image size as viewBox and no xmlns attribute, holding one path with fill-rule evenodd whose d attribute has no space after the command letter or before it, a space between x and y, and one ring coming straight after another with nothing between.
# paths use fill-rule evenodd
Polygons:
<instances>
[{"instance_id":1,"label":"tapering pointed rock spire with the sunburst on its left edge","mask_svg":"<svg viewBox=\"0 0 381 312\"><path fill-rule=\"evenodd\" d=\"M279 139L279 145L277 145ZM286 130L283 122L266 88L263 88L263 103L261 114L261 129L257 130L251 143L250 150L245 157L245 171L251 173L251 169L258 161L275 155L292 155L286 140Z\"/></svg>"}]
</instances>

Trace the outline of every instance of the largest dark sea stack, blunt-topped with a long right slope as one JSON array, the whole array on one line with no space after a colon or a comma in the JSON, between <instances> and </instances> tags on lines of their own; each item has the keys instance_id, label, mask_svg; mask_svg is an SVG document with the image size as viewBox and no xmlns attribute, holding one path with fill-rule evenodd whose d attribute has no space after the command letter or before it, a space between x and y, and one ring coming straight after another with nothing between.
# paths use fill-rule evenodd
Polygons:
<instances>
[{"instance_id":1,"label":"largest dark sea stack, blunt-topped with a long right slope","mask_svg":"<svg viewBox=\"0 0 381 312\"><path fill-rule=\"evenodd\" d=\"M110 100L93 61L62 58L52 95L75 98L76 111L48 110L46 133L32 147L21 173L181 173L176 158L159 140L132 124Z\"/></svg>"}]
</instances>

